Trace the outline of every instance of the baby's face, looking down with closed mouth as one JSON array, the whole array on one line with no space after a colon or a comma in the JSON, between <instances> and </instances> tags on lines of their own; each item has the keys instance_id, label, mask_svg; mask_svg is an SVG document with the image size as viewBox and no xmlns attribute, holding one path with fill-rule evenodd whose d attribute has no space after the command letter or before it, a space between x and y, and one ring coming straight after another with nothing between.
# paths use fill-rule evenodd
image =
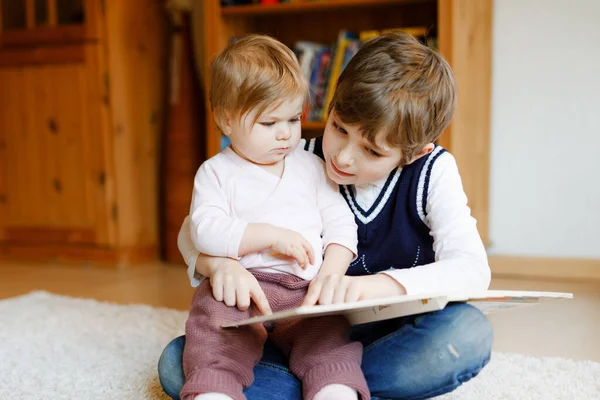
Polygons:
<instances>
[{"instance_id":1,"label":"baby's face, looking down with closed mouth","mask_svg":"<svg viewBox=\"0 0 600 400\"><path fill-rule=\"evenodd\" d=\"M260 165L282 161L300 142L300 116L304 98L298 96L267 108L256 119L251 111L245 118L231 118L223 132L229 136L231 147L241 157Z\"/></svg>"}]
</instances>

